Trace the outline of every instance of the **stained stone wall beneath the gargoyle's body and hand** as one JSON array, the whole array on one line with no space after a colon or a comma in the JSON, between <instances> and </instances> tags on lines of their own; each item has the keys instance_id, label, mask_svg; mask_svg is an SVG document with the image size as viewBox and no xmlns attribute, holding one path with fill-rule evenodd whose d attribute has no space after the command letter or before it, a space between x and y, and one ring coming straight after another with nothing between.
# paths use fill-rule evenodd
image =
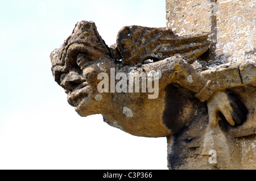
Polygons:
<instances>
[{"instance_id":1,"label":"stained stone wall beneath the gargoyle's body and hand","mask_svg":"<svg viewBox=\"0 0 256 181\"><path fill-rule=\"evenodd\" d=\"M247 85L227 91L236 94L249 110L246 121L233 127L221 116L216 128L209 127L207 105L200 103L197 116L168 137L170 169L255 169L256 104L251 99L255 100L256 87ZM209 163L210 150L216 150L217 163Z\"/></svg>"}]
</instances>

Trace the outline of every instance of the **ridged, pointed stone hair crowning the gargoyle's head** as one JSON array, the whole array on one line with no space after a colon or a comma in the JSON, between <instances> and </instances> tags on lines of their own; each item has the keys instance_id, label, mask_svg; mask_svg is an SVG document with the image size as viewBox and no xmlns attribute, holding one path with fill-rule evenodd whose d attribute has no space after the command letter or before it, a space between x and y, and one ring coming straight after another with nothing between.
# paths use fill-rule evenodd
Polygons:
<instances>
[{"instance_id":1,"label":"ridged, pointed stone hair crowning the gargoyle's head","mask_svg":"<svg viewBox=\"0 0 256 181\"><path fill-rule=\"evenodd\" d=\"M51 53L52 73L60 85L60 75L71 66L77 66L76 56L85 53L86 59L97 60L109 58L110 52L105 41L101 39L94 22L81 21L76 23L71 34L59 49Z\"/></svg>"}]
</instances>

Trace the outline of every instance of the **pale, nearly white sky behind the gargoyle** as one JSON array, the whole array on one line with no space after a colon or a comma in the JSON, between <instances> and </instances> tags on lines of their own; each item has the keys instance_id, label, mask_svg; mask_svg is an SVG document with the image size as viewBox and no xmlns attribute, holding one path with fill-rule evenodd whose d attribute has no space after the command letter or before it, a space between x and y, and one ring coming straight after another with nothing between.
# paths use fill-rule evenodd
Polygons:
<instances>
[{"instance_id":1,"label":"pale, nearly white sky behind the gargoyle","mask_svg":"<svg viewBox=\"0 0 256 181\"><path fill-rule=\"evenodd\" d=\"M123 26L165 27L165 15L165 0L2 2L0 169L167 169L166 138L80 117L49 60L80 20L93 20L111 45Z\"/></svg>"}]
</instances>

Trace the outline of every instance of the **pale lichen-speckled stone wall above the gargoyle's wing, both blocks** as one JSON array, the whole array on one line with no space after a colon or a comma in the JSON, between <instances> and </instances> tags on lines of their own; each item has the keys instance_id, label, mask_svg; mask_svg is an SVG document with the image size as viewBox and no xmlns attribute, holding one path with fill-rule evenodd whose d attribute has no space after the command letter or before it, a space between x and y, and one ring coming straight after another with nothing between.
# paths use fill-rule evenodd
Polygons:
<instances>
[{"instance_id":1,"label":"pale lichen-speckled stone wall above the gargoyle's wing, both blocks","mask_svg":"<svg viewBox=\"0 0 256 181\"><path fill-rule=\"evenodd\" d=\"M255 60L255 0L167 0L166 12L174 33L210 33L209 64Z\"/></svg>"}]
</instances>

